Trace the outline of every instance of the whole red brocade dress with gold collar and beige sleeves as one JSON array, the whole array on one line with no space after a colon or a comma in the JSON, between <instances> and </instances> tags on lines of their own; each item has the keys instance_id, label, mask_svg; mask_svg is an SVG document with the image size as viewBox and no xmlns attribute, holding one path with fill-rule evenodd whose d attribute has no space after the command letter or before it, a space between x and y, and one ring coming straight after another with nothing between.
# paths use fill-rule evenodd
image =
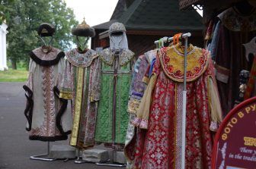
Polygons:
<instances>
[{"instance_id":1,"label":"whole red brocade dress with gold collar and beige sleeves","mask_svg":"<svg viewBox=\"0 0 256 169\"><path fill-rule=\"evenodd\" d=\"M183 79L184 50L180 45L162 48L137 111L137 114L149 114L149 124L145 134L137 137L140 140L136 140L134 168L181 168ZM152 92L149 104L145 104L149 100L145 99L147 92ZM210 130L217 130L221 120L209 52L190 45L185 168L210 168L213 145Z\"/></svg>"}]
</instances>

